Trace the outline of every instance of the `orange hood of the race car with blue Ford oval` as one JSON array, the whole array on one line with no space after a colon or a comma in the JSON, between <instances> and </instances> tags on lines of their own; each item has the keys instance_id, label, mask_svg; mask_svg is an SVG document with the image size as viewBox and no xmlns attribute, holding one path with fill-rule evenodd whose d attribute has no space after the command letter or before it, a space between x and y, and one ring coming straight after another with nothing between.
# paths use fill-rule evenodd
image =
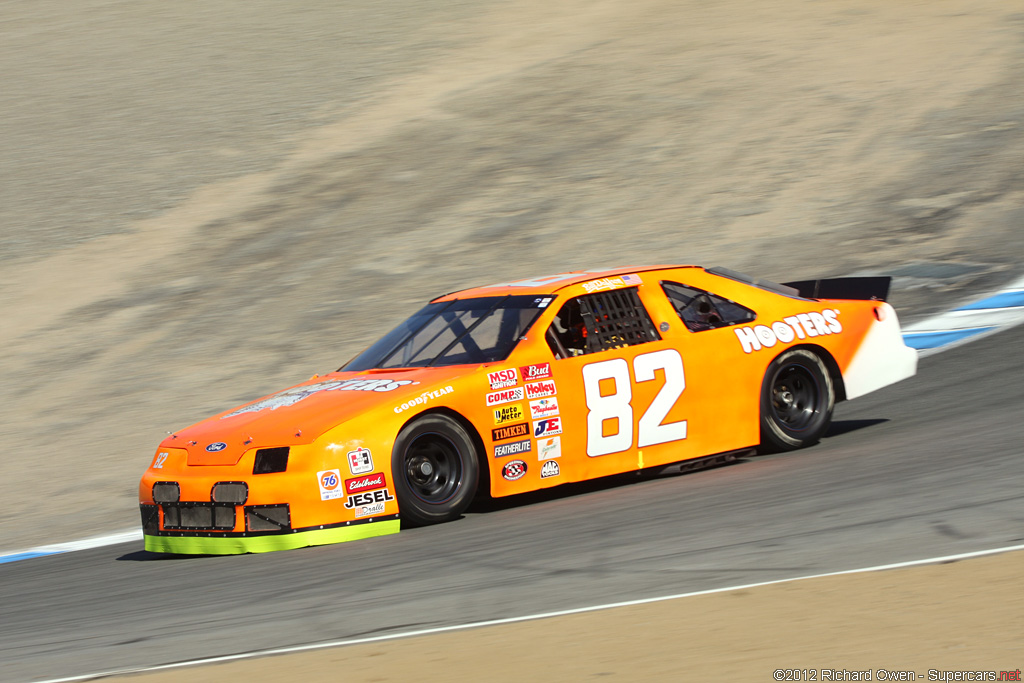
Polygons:
<instances>
[{"instance_id":1,"label":"orange hood of the race car with blue Ford oval","mask_svg":"<svg viewBox=\"0 0 1024 683\"><path fill-rule=\"evenodd\" d=\"M368 411L390 411L424 394L451 391L447 382L462 374L453 370L402 369L313 377L177 431L164 439L161 447L187 451L189 465L233 465L251 449L311 443L327 430Z\"/></svg>"}]
</instances>

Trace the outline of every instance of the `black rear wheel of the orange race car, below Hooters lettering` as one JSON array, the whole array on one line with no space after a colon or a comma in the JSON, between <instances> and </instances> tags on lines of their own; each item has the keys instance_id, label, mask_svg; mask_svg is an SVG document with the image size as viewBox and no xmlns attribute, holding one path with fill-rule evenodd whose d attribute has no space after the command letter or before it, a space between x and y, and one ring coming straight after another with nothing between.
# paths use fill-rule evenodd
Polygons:
<instances>
[{"instance_id":1,"label":"black rear wheel of the orange race car, below Hooters lettering","mask_svg":"<svg viewBox=\"0 0 1024 683\"><path fill-rule=\"evenodd\" d=\"M831 424L836 387L821 358L808 349L780 354L761 384L761 451L817 443Z\"/></svg>"}]
</instances>

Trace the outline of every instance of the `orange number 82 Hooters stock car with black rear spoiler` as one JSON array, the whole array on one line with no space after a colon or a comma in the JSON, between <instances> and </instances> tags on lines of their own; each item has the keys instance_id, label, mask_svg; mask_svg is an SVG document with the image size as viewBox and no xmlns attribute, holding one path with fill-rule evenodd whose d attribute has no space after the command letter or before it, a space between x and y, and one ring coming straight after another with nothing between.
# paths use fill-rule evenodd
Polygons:
<instances>
[{"instance_id":1,"label":"orange number 82 Hooters stock car with black rear spoiler","mask_svg":"<svg viewBox=\"0 0 1024 683\"><path fill-rule=\"evenodd\" d=\"M434 299L341 370L166 438L146 550L393 533L511 496L815 442L836 401L914 374L888 278L569 272Z\"/></svg>"}]
</instances>

